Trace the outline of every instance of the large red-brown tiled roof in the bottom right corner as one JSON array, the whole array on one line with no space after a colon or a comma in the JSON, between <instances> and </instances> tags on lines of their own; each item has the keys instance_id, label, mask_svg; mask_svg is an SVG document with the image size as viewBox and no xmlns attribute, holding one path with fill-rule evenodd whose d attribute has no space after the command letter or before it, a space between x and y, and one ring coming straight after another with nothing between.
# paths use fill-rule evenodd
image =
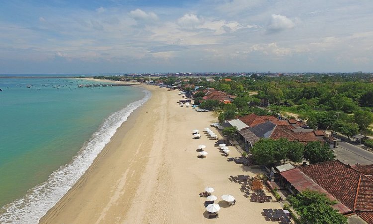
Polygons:
<instances>
[{"instance_id":1,"label":"large red-brown tiled roof in the bottom right corner","mask_svg":"<svg viewBox=\"0 0 373 224\"><path fill-rule=\"evenodd\" d=\"M372 171L373 164L350 166L335 160L301 166L281 175L299 191L306 188L326 191L329 198L340 202L333 207L342 214L355 212L366 222L373 223Z\"/></svg>"}]
</instances>

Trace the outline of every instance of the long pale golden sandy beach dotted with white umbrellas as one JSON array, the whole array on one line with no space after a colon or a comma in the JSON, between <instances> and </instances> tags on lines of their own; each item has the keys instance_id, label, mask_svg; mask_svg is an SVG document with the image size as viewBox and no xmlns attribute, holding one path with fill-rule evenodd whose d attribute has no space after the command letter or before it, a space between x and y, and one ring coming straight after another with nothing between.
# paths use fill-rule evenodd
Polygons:
<instances>
[{"instance_id":1,"label":"long pale golden sandy beach dotted with white umbrellas","mask_svg":"<svg viewBox=\"0 0 373 224\"><path fill-rule=\"evenodd\" d=\"M179 107L177 91L144 87L152 92L151 99L131 114L40 223L273 223L261 211L281 208L279 203L250 202L240 185L228 180L259 171L228 162L215 141L203 134L216 115ZM193 129L201 131L201 139L192 138ZM197 158L200 144L209 153L204 159ZM234 147L229 149L230 157L240 156ZM206 199L198 195L207 186L215 188L218 219L207 219ZM236 205L229 207L223 194L233 195Z\"/></svg>"}]
</instances>

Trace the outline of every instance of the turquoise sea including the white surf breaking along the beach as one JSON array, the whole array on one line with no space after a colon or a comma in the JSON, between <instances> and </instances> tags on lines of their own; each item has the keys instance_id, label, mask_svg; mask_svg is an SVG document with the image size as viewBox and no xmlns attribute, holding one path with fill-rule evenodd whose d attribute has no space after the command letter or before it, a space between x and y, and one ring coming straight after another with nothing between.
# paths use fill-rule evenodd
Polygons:
<instances>
[{"instance_id":1,"label":"turquoise sea including the white surf breaking along the beach","mask_svg":"<svg viewBox=\"0 0 373 224\"><path fill-rule=\"evenodd\" d=\"M37 223L150 97L130 86L78 88L88 83L0 79L0 223Z\"/></svg>"}]
</instances>

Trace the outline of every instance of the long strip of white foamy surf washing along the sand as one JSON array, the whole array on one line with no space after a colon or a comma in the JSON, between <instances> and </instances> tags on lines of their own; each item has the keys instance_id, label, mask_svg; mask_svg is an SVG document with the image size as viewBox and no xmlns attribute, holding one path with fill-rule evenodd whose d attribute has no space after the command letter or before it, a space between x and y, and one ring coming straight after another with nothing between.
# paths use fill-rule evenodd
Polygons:
<instances>
[{"instance_id":1,"label":"long strip of white foamy surf washing along the sand","mask_svg":"<svg viewBox=\"0 0 373 224\"><path fill-rule=\"evenodd\" d=\"M32 189L27 194L3 207L6 211L0 216L1 224L37 224L41 217L52 208L78 181L93 163L96 156L110 141L118 127L128 116L147 100L151 93L144 90L145 97L132 102L126 108L109 116L90 140L84 143L78 154L69 164L54 171L48 180Z\"/></svg>"}]
</instances>

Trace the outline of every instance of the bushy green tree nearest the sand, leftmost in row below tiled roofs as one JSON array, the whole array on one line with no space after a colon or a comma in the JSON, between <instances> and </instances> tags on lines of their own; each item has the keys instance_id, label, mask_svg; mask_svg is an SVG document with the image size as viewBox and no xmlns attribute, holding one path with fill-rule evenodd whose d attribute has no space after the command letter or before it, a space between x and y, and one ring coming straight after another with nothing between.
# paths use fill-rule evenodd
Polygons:
<instances>
[{"instance_id":1,"label":"bushy green tree nearest the sand, leftmost in row below tiled roofs","mask_svg":"<svg viewBox=\"0 0 373 224\"><path fill-rule=\"evenodd\" d=\"M276 143L275 140L262 138L257 141L251 149L254 160L261 165L275 163Z\"/></svg>"}]
</instances>

